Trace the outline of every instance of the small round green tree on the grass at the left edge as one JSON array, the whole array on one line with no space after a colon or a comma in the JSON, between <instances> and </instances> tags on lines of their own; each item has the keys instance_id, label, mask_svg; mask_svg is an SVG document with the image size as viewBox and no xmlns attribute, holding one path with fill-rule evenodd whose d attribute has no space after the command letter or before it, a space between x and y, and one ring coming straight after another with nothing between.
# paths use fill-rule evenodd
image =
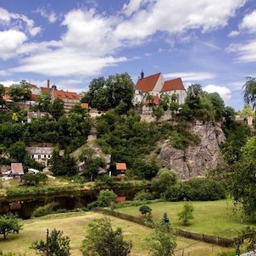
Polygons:
<instances>
[{"instance_id":1,"label":"small round green tree on the grass at the left edge","mask_svg":"<svg viewBox=\"0 0 256 256\"><path fill-rule=\"evenodd\" d=\"M22 225L21 219L17 215L0 215L0 235L3 235L3 239L6 239L8 234L18 234Z\"/></svg>"}]
</instances>

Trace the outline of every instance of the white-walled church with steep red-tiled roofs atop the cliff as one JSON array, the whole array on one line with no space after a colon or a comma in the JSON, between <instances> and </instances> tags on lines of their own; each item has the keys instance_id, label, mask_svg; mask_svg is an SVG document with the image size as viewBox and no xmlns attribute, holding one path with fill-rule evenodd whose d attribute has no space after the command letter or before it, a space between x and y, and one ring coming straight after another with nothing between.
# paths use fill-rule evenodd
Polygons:
<instances>
[{"instance_id":1,"label":"white-walled church with steep red-tiled roofs atop the cliff","mask_svg":"<svg viewBox=\"0 0 256 256\"><path fill-rule=\"evenodd\" d=\"M147 94L153 96L153 103L156 105L160 103L160 98L164 94L169 96L175 94L177 103L183 104L185 103L186 89L181 78L164 81L164 76L161 73L144 77L144 72L142 71L141 77L139 77L136 82L133 102L135 104L142 103L143 106L148 106L147 100L145 101ZM144 107L142 111L147 112L148 109Z\"/></svg>"}]
</instances>

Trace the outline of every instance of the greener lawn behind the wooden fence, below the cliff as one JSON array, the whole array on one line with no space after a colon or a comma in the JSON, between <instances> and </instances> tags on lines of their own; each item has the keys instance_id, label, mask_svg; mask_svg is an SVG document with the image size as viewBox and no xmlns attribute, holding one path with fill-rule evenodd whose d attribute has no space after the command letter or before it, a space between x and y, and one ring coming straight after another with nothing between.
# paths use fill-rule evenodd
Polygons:
<instances>
[{"instance_id":1,"label":"greener lawn behind the wooden fence, below the cliff","mask_svg":"<svg viewBox=\"0 0 256 256\"><path fill-rule=\"evenodd\" d=\"M178 220L178 213L183 208L183 202L159 202L148 204L152 209L153 219L161 218L164 211L170 218L171 225L185 231L209 234L219 237L237 237L237 232L250 224L243 220L241 211L234 211L231 200L219 200L209 202L192 202L194 206L194 220L192 225L183 226ZM140 206L115 209L124 214L142 217Z\"/></svg>"}]
</instances>

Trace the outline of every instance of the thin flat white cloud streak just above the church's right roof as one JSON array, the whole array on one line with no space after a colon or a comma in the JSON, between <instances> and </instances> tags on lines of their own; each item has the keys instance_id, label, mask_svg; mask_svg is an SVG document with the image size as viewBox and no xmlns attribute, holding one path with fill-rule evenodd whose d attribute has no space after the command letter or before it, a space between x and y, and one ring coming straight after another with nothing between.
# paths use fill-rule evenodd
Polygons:
<instances>
[{"instance_id":1,"label":"thin flat white cloud streak just above the church's right roof","mask_svg":"<svg viewBox=\"0 0 256 256\"><path fill-rule=\"evenodd\" d=\"M207 72L179 72L179 73L164 74L164 77L166 78L181 77L182 81L204 81L208 79L213 79L215 75Z\"/></svg>"}]
</instances>

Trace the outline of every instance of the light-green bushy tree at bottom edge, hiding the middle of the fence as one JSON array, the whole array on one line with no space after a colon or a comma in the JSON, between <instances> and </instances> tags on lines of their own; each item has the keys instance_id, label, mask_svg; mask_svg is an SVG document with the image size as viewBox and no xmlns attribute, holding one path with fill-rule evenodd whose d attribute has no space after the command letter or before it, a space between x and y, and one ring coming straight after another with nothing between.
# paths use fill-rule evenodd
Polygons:
<instances>
[{"instance_id":1,"label":"light-green bushy tree at bottom edge, hiding the middle of the fence","mask_svg":"<svg viewBox=\"0 0 256 256\"><path fill-rule=\"evenodd\" d=\"M146 238L145 246L152 256L172 256L176 247L175 231L170 231L162 220L158 220L154 222L153 231Z\"/></svg>"}]
</instances>

